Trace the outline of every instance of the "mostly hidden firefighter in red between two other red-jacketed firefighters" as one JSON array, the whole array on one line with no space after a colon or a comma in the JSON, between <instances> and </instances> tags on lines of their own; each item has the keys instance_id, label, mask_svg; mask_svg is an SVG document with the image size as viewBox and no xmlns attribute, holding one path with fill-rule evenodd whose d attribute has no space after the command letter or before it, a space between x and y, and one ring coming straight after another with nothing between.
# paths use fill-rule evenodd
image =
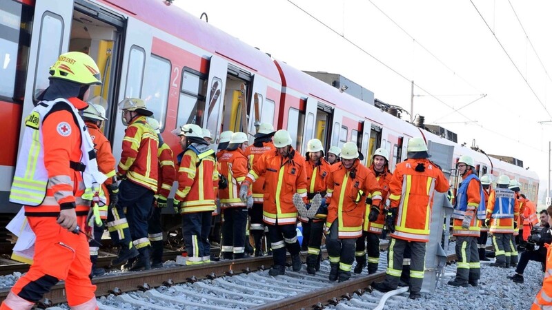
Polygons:
<instances>
[{"instance_id":1,"label":"mostly hidden firefighter in red between two other red-jacketed firefighters","mask_svg":"<svg viewBox=\"0 0 552 310\"><path fill-rule=\"evenodd\" d=\"M167 207L167 197L170 194L172 183L176 179L176 169L172 150L163 141L159 122L155 118L148 118L152 130L157 134L159 145L157 147L157 193L153 203L153 211L148 219L148 239L151 244L151 267L157 269L163 267L163 228L161 227L161 212Z\"/></svg>"}]
</instances>

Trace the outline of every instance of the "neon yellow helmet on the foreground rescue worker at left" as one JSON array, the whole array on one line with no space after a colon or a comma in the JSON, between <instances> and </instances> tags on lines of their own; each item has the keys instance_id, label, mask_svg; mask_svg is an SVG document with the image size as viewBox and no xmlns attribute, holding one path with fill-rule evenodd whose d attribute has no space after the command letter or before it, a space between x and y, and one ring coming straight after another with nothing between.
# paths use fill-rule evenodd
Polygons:
<instances>
[{"instance_id":1,"label":"neon yellow helmet on the foreground rescue worker at left","mask_svg":"<svg viewBox=\"0 0 552 310\"><path fill-rule=\"evenodd\" d=\"M101 85L98 65L92 57L82 52L59 55L50 67L49 79L62 79L82 85Z\"/></svg>"}]
</instances>

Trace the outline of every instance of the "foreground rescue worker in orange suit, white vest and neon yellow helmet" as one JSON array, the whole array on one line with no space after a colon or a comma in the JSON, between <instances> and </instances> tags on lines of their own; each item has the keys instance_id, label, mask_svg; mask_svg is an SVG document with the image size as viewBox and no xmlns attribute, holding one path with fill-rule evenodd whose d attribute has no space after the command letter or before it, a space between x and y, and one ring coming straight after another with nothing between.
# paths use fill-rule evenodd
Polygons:
<instances>
[{"instance_id":1,"label":"foreground rescue worker in orange suit, white vest and neon yellow helmet","mask_svg":"<svg viewBox=\"0 0 552 310\"><path fill-rule=\"evenodd\" d=\"M10 201L23 205L37 238L33 264L3 300L2 310L31 309L59 280L65 280L69 307L98 309L88 277L88 240L79 231L90 209L84 189L106 177L89 156L94 145L77 110L87 107L82 98L88 87L99 84L90 56L61 54L50 67L50 87L26 118Z\"/></svg>"}]
</instances>

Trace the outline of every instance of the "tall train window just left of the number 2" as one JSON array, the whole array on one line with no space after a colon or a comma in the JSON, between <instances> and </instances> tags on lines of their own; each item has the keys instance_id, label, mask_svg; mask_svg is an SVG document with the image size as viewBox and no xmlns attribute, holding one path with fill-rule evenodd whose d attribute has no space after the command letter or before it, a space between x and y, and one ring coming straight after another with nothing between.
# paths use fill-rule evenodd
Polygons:
<instances>
[{"instance_id":1,"label":"tall train window just left of the number 2","mask_svg":"<svg viewBox=\"0 0 552 310\"><path fill-rule=\"evenodd\" d=\"M170 61L151 55L148 70L144 76L143 99L153 117L159 121L161 132L165 128L168 87L170 85Z\"/></svg>"}]
</instances>

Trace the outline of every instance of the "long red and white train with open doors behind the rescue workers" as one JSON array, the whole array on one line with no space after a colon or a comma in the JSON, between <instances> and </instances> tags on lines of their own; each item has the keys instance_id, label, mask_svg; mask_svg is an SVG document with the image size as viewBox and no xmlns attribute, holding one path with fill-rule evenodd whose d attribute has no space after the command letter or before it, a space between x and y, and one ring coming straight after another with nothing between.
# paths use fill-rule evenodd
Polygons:
<instances>
[{"instance_id":1,"label":"long red and white train with open doors behind the rescue workers","mask_svg":"<svg viewBox=\"0 0 552 310\"><path fill-rule=\"evenodd\" d=\"M104 131L115 156L120 154L125 129L117 103L139 97L154 112L175 153L179 145L170 131L185 123L208 128L217 141L224 130L254 133L255 124L269 122L288 130L299 152L311 138L319 138L326 149L354 141L366 155L365 164L377 147L388 149L393 169L406 158L408 139L423 135L427 141L453 145L453 158L472 156L480 175L506 174L519 180L522 192L537 199L534 172L419 130L272 59L170 1L2 0L0 214L4 216L19 209L8 203L8 193L21 120L31 110L34 94L48 86L49 66L59 54L74 50L90 54L101 69L103 85L91 93L108 102Z\"/></svg>"}]
</instances>

